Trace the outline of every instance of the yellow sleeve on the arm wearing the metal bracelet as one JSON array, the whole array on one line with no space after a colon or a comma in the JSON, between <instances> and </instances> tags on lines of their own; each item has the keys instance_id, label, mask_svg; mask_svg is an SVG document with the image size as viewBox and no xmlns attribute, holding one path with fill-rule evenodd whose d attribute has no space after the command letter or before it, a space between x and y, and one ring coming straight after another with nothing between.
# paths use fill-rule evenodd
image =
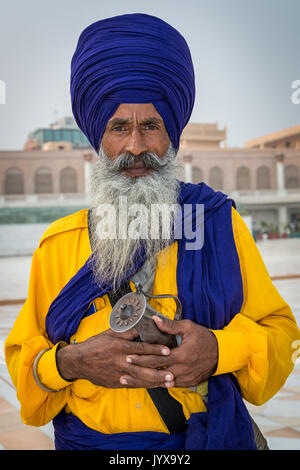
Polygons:
<instances>
[{"instance_id":1,"label":"yellow sleeve on the arm wearing the metal bracelet","mask_svg":"<svg viewBox=\"0 0 300 470\"><path fill-rule=\"evenodd\" d=\"M59 392L47 393L37 385L33 377L32 366L38 353L46 348L53 348L53 351L56 349L44 333L44 317L49 308L49 298L40 257L40 248L37 248L32 258L26 302L5 342L7 368L17 390L21 418L25 424L32 426L48 423L63 408L69 392L67 387ZM59 382L59 388L64 385L63 382ZM65 382L65 387L66 385L70 383Z\"/></svg>"}]
</instances>

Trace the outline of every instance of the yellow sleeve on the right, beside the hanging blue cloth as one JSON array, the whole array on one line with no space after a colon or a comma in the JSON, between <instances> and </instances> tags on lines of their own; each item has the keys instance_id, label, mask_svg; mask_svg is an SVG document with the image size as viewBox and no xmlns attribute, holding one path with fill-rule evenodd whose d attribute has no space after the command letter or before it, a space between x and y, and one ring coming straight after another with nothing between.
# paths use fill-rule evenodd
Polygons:
<instances>
[{"instance_id":1,"label":"yellow sleeve on the right, beside the hanging blue cloth","mask_svg":"<svg viewBox=\"0 0 300 470\"><path fill-rule=\"evenodd\" d=\"M244 299L240 313L223 330L212 330L219 347L214 375L233 372L243 397L261 405L280 390L293 370L292 344L300 338L300 331L235 209L232 225Z\"/></svg>"}]
</instances>

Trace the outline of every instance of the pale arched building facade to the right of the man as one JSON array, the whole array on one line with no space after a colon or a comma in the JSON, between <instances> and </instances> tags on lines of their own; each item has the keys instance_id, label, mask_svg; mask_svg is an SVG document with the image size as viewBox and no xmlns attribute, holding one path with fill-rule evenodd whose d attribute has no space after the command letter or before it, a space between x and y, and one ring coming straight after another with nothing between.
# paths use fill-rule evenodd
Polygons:
<instances>
[{"instance_id":1,"label":"pale arched building facade to the right of the man","mask_svg":"<svg viewBox=\"0 0 300 470\"><path fill-rule=\"evenodd\" d=\"M180 157L187 180L204 181L233 198L238 210L252 218L256 237L300 233L300 150L181 150Z\"/></svg>"}]
</instances>

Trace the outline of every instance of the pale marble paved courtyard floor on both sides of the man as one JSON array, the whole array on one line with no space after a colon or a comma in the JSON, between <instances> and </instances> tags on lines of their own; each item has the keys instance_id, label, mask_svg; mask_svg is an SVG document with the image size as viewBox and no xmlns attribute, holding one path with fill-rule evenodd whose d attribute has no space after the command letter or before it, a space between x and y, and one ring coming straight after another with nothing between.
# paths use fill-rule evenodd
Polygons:
<instances>
[{"instance_id":1,"label":"pale marble paved courtyard floor on both sides of the man","mask_svg":"<svg viewBox=\"0 0 300 470\"><path fill-rule=\"evenodd\" d=\"M258 242L274 284L289 303L300 325L300 239ZM8 375L3 342L26 298L30 257L0 258L0 449L53 449L53 429L25 426ZM296 277L299 275L299 277ZM10 303L19 300L19 304ZM284 387L260 407L247 405L270 449L300 450L300 363Z\"/></svg>"}]
</instances>

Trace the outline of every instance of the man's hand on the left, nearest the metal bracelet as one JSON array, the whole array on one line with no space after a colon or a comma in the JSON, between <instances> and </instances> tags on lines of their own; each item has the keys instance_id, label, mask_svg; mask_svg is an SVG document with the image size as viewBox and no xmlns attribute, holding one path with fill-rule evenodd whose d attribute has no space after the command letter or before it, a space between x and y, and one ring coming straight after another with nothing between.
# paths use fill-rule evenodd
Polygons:
<instances>
[{"instance_id":1,"label":"man's hand on the left, nearest the metal bracelet","mask_svg":"<svg viewBox=\"0 0 300 470\"><path fill-rule=\"evenodd\" d=\"M132 354L151 358L151 362L170 354L166 346L133 341L137 337L134 329L126 333L109 329L82 343L65 346L57 351L58 370L65 380L87 379L109 388L173 387L173 375L167 370L127 362Z\"/></svg>"}]
</instances>

